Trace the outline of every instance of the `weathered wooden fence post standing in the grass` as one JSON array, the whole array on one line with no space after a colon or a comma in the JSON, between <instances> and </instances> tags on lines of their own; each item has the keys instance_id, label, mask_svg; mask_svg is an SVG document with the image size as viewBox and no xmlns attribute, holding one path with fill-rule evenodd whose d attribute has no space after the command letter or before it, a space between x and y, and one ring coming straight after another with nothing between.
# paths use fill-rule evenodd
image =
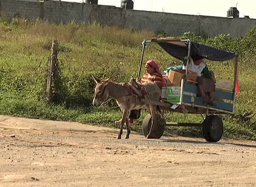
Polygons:
<instances>
[{"instance_id":1,"label":"weathered wooden fence post standing in the grass","mask_svg":"<svg viewBox=\"0 0 256 187\"><path fill-rule=\"evenodd\" d=\"M58 67L58 41L53 40L52 43L52 54L50 56L50 61L48 65L48 77L47 77L47 85L46 85L46 97L49 103L53 103L53 93L52 86L54 80L54 73L56 72L56 68Z\"/></svg>"}]
</instances>

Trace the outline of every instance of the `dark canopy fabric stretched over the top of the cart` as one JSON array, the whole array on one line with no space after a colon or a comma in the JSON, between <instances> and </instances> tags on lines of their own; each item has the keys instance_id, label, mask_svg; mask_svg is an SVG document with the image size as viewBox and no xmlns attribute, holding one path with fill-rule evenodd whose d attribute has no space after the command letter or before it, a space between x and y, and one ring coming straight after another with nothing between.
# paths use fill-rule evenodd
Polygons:
<instances>
[{"instance_id":1,"label":"dark canopy fabric stretched over the top of the cart","mask_svg":"<svg viewBox=\"0 0 256 187\"><path fill-rule=\"evenodd\" d=\"M182 60L182 57L188 54L188 43L185 41L156 41L167 53L171 56ZM231 60L238 54L223 51L196 42L191 42L190 55L197 54L211 61L226 61Z\"/></svg>"}]
</instances>

